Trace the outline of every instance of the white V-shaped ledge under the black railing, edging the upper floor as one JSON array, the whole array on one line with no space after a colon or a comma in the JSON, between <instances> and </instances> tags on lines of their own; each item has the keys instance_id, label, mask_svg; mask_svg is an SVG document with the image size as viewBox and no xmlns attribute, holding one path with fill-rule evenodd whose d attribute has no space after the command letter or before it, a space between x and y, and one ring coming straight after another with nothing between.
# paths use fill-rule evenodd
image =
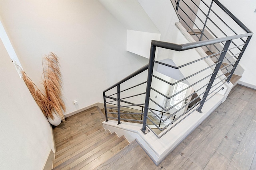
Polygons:
<instances>
[{"instance_id":1,"label":"white V-shaped ledge under the black railing, edging the upper floor","mask_svg":"<svg viewBox=\"0 0 256 170\"><path fill-rule=\"evenodd\" d=\"M104 121L103 127L106 130L108 129L111 133L116 132L118 137L124 135L130 143L136 140L153 162L158 165L178 144L198 127L216 107L224 102L224 100L224 95L216 94L204 104L202 108L203 113L194 111L160 139L151 131L144 135L142 131L140 131L142 124L138 123L122 122L120 125L117 125L117 121L110 120L107 122Z\"/></svg>"}]
</instances>

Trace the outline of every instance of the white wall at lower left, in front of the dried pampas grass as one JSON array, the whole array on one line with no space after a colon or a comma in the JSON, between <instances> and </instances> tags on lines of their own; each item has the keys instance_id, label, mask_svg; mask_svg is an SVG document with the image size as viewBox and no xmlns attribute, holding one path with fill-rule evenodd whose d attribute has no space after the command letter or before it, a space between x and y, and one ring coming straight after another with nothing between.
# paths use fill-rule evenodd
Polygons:
<instances>
[{"instance_id":1,"label":"white wall at lower left, in front of the dried pampas grass","mask_svg":"<svg viewBox=\"0 0 256 170\"><path fill-rule=\"evenodd\" d=\"M54 150L52 130L2 41L0 48L0 169L40 170Z\"/></svg>"}]
</instances>

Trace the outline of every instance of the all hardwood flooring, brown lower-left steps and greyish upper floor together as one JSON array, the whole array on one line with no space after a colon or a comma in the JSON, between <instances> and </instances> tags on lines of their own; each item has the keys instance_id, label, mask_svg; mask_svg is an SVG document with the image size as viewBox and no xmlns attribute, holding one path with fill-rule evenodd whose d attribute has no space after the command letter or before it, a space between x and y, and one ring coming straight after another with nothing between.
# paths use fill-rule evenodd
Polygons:
<instances>
[{"instance_id":1,"label":"all hardwood flooring, brown lower-left steps and greyish upper floor together","mask_svg":"<svg viewBox=\"0 0 256 170\"><path fill-rule=\"evenodd\" d=\"M128 145L124 137L104 131L98 109L85 112L54 129L58 151L54 169L256 170L256 91L250 88L235 86L159 166L136 141ZM108 143L99 147L101 141Z\"/></svg>"}]
</instances>

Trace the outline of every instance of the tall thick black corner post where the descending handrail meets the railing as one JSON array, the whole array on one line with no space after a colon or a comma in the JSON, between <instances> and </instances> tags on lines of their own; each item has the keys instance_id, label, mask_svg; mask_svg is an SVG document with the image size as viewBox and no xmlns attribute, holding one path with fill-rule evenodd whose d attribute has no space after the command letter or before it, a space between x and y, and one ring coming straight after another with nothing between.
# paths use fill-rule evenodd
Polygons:
<instances>
[{"instance_id":1,"label":"tall thick black corner post where the descending handrail meets the railing","mask_svg":"<svg viewBox=\"0 0 256 170\"><path fill-rule=\"evenodd\" d=\"M146 87L146 98L145 98L143 125L142 125L142 129L140 129L144 134L147 133L146 132L146 123L147 123L147 117L148 117L150 87L151 87L151 83L152 83L152 74L153 74L153 68L154 68L155 55L156 55L156 46L153 45L153 43L151 42L149 65L148 65L148 80L147 80L147 87Z\"/></svg>"}]
</instances>

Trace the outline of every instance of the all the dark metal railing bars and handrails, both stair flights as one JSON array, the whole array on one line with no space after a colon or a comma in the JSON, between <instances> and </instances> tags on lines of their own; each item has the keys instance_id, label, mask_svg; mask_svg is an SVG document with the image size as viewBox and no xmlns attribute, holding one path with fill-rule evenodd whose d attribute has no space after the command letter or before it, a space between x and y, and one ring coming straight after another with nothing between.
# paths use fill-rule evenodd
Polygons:
<instances>
[{"instance_id":1,"label":"all the dark metal railing bars and handrails, both stair flights","mask_svg":"<svg viewBox=\"0 0 256 170\"><path fill-rule=\"evenodd\" d=\"M181 0L181 1L184 2L183 0ZM176 10L181 9L181 8L179 8L179 2L180 2L180 0L178 0L178 2L177 2ZM203 1L201 0L201 2L203 2ZM226 14L228 14L228 16L230 16L230 18L232 18L232 20L234 20L242 29L244 29L244 31L246 31L246 33L237 34L232 28L229 27L235 33L235 35L227 36L227 34L224 33L224 31L222 31L216 25L224 33L224 35L226 37L217 38L217 36L213 33L216 38L208 39L208 37L206 37L206 35L204 35L204 29L205 28L209 29L208 26L206 25L207 20L209 19L210 21L212 21L209 18L210 12L213 12L214 14L216 14L212 10L213 2L216 3L224 12L226 12ZM164 134L166 134L168 131L170 131L173 127L178 125L179 122L181 122L186 117L188 117L188 115L190 115L192 112L198 111L198 112L202 113L201 109L204 106L204 103L206 101L210 100L210 98L212 98L214 95L218 94L218 92L220 92L221 90L224 90L224 87L223 87L224 84L226 82L229 82L232 74L234 73L234 70L236 69L236 66L238 65L238 62L240 61L240 59L244 53L244 50L246 49L246 46L248 45L248 43L250 41L250 38L253 35L253 33L240 20L238 20L229 10L227 10L218 0L212 0L210 6L208 6L206 3L204 3L204 4L208 7L209 10L208 10L208 14L207 13L204 14L206 16L206 20L205 20L205 22L203 22L204 27L203 27L202 31L198 27L198 29L201 31L201 33L200 33L201 36L200 37L197 36L197 37L200 39L200 41L193 42L193 43L176 44L176 43L152 40L149 63L146 64L145 66L143 66L142 68L140 68L139 70L135 71L134 73L130 74L126 78L122 79L121 81L117 82L110 88L103 91L106 121L108 121L108 118L118 120L118 124L120 124L120 120L130 121L130 122L137 121L137 122L143 123L142 129L141 129L141 131L143 133L146 134L146 127L148 127L148 129L150 129L158 138L160 138ZM190 7L188 6L188 8L190 8ZM192 10L192 9L190 8L190 10ZM184 10L182 10L182 11L184 12ZM186 16L188 16L188 15L186 14ZM200 20L200 21L202 21L202 20ZM186 25L188 25L188 24L186 24ZM202 35L204 35L207 38L207 40L201 41ZM246 41L244 41L245 38L247 38ZM236 43L235 43L236 41L234 41L235 39L238 39L239 41L242 40L243 44L236 45ZM231 43L232 43L232 46L230 46ZM220 45L218 46L217 44L220 44ZM212 52L208 47L209 45L213 45L219 52L217 52L217 53ZM223 45L223 46L221 46L221 45ZM233 47L233 45L235 45L235 47ZM202 57L200 59L195 59L194 61L189 61L185 64L182 63L180 66L173 66L173 65L170 65L167 63L163 63L161 61L155 61L156 48L163 48L163 49L168 49L168 50L172 50L172 51L186 51L186 50L195 49L198 47L206 47L212 54L208 55L206 57ZM218 48L219 49L222 48L222 49L219 50ZM238 49L238 50L240 50L240 52L234 52L234 53L236 53L234 55L233 51L230 51L233 49ZM229 56L230 54L228 54L228 56L226 56L228 51L232 54L231 57ZM237 55L239 55L239 56L237 57ZM218 59L218 61L212 65L208 64L207 66L200 68L200 70L196 69L194 72L191 72L190 74L184 76L185 78L181 78L181 80L177 80L176 82L171 83L171 82L164 80L163 78L157 76L158 74L153 74L154 63L162 64L169 68L181 69L182 67L195 64L196 62L205 61L206 59L209 59L210 57L216 57L216 59ZM231 59L232 57L234 57L235 61L229 61L229 59ZM223 61L228 61L230 64L224 65L224 64L222 64ZM223 67L221 68L221 66L223 66ZM218 73L219 71L221 72L224 69L227 70L225 73L222 73L222 74ZM120 90L120 84L126 82L127 80L133 78L134 76L137 76L138 74L144 72L145 70L148 70L147 81L144 81L142 83L139 83L139 84L131 86L131 87L128 87L125 90L122 90L122 91ZM207 74L205 74L206 70L208 71ZM184 80L191 80L192 76L196 76L201 73L203 75L200 78L198 78L200 80L196 80L196 82L192 81L191 84L184 87L182 90L175 92L175 94L165 95L164 92L161 92L161 90L157 90L157 88L152 86L152 78L153 77L156 78L157 81L161 81L162 83L166 83L170 86L174 86L174 85L178 85L178 83L183 82ZM218 76L217 76L217 74L218 74ZM144 83L146 83L146 93L144 91L141 91L141 92L137 92L137 94L130 94L130 95L125 95L125 97L120 97L120 94L122 92L136 88L137 86L140 86ZM171 107L168 106L169 108L166 107L166 104L164 105L165 106L164 107L161 103L158 103L158 99L154 100L152 97L150 97L150 90L152 90L152 91L154 91L154 93L157 93L162 98L164 98L166 100L166 102L168 102L168 100L174 98L175 96L181 95L183 92L186 93L186 90L188 90L190 88L194 88L195 86L197 86L197 87L196 87L196 89L194 89L194 93L191 93L190 95L186 95L186 98L183 98L182 100L178 100L178 102L175 102L176 105L169 104L171 106ZM105 95L105 93L108 92L108 90L111 90L114 87L117 87L116 93L108 95L108 96ZM129 101L132 101L132 98L134 98L136 96L141 96L144 94L146 95L145 103L135 104L133 102L129 102ZM188 100L188 98L192 98L192 96L194 96L194 94L196 94L197 96L193 97L193 99ZM117 97L113 97L114 95L117 95ZM111 100L111 101L106 102L106 99ZM126 101L126 100L129 100L129 101ZM115 103L115 102L117 102L117 103ZM114 107L106 107L107 103L108 104L115 103L115 104L113 104L115 106ZM151 108L150 103L153 104L154 107L156 107L157 109ZM123 104L124 105L128 104L128 105L124 106ZM176 107L178 104L181 104L181 105L179 107ZM123 108L132 108L132 107L141 107L142 108L142 113L138 113L139 115L141 115L140 120L133 119L134 117L138 119L139 116L133 115L133 114L137 114L137 113L121 112L121 111L124 111ZM115 109L115 110L117 110L117 112L115 112L115 113L107 112L106 111L107 108ZM134 109L134 108L132 108L132 109ZM135 109L135 110L139 110L139 109ZM167 111L169 111L170 113ZM180 111L183 111L183 112L179 113ZM138 112L138 111L135 111L135 112ZM118 117L108 117L107 116L108 113L112 113L112 114L114 114L113 116L117 115ZM148 117L148 113L154 115L155 117ZM168 113L168 115L163 115L164 113ZM120 116L124 116L124 115L126 115L128 117L126 117L126 118L120 117ZM142 117L143 117L143 120L142 120ZM173 118L173 119L171 119L171 118ZM151 127L148 125L148 123L147 123L148 121L149 121L149 123L150 122L152 123L150 125L155 125L156 128L158 128L160 131L163 131L163 132L160 133L160 135L156 134L151 129ZM166 122L166 124L163 124L164 122ZM171 127L169 127L169 126L171 126ZM167 128L167 130L166 130L166 128Z\"/></svg>"}]
</instances>

